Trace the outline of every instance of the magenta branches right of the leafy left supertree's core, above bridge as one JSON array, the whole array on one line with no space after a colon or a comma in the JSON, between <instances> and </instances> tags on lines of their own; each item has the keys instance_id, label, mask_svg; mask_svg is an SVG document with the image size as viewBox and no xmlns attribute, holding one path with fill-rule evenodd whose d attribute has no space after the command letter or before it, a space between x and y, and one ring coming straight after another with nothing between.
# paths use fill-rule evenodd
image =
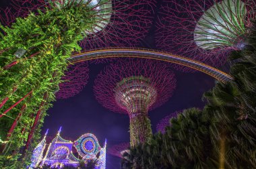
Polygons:
<instances>
[{"instance_id":1,"label":"magenta branches right of the leafy left supertree's core, above bridge","mask_svg":"<svg viewBox=\"0 0 256 169\"><path fill-rule=\"evenodd\" d=\"M114 0L113 13L104 29L88 34L83 48L135 46L146 36L153 21L155 0Z\"/></svg>"}]
</instances>

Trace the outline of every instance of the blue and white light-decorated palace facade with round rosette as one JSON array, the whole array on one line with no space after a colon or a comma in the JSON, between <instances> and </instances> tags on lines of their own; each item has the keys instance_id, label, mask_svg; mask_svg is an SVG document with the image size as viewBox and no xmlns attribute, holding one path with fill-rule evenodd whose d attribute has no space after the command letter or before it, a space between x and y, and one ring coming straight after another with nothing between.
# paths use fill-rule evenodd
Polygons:
<instances>
[{"instance_id":1,"label":"blue and white light-decorated palace facade with round rosette","mask_svg":"<svg viewBox=\"0 0 256 169\"><path fill-rule=\"evenodd\" d=\"M36 146L32 154L30 168L49 166L50 168L77 168L79 162L85 164L89 160L98 160L96 169L106 168L106 141L101 148L98 139L91 133L86 133L75 142L63 139L60 136L61 128L50 144L46 144L46 134L42 141ZM48 148L47 148L48 147ZM79 157L76 157L72 148L75 148Z\"/></svg>"}]
</instances>

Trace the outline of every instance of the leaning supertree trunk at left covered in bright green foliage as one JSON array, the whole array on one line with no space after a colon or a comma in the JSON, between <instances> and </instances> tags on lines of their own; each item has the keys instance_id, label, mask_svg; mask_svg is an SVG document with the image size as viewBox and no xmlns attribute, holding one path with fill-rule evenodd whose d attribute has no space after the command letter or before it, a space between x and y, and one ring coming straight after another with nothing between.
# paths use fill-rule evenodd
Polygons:
<instances>
[{"instance_id":1,"label":"leaning supertree trunk at left covered in bright green foliage","mask_svg":"<svg viewBox=\"0 0 256 169\"><path fill-rule=\"evenodd\" d=\"M11 147L5 144L1 150L19 151L25 139L28 149L55 100L67 58L81 50L82 33L94 32L102 17L113 13L104 8L108 1L63 2L44 2L44 10L16 19L11 27L1 26L0 137L11 140Z\"/></svg>"}]
</instances>

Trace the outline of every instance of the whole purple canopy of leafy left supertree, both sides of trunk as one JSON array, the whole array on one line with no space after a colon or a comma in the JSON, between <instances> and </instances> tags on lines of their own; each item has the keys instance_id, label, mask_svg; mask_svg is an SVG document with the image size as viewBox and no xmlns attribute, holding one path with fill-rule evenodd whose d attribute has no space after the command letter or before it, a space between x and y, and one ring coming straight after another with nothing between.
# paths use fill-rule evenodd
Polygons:
<instances>
[{"instance_id":1,"label":"whole purple canopy of leafy left supertree, both sides of trunk","mask_svg":"<svg viewBox=\"0 0 256 169\"><path fill-rule=\"evenodd\" d=\"M30 11L44 11L49 7L45 0L11 0L11 9L2 10L5 17L0 20L7 25L15 21L15 17L26 17ZM61 8L73 0L51 0ZM83 3L97 4L102 0L81 0ZM96 6L94 10L101 11L98 17L101 21L85 31L86 38L80 43L82 48L95 49L104 47L135 46L148 33L154 17L156 0L104 0L104 5ZM14 10L13 10L14 9ZM105 12L102 13L102 10Z\"/></svg>"}]
</instances>

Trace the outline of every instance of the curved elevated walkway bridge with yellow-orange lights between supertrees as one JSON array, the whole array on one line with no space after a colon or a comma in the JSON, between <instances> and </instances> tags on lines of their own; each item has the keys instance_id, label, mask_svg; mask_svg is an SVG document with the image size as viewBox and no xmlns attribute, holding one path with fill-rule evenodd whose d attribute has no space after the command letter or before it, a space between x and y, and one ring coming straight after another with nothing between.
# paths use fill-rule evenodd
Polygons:
<instances>
[{"instance_id":1,"label":"curved elevated walkway bridge with yellow-orange lights between supertrees","mask_svg":"<svg viewBox=\"0 0 256 169\"><path fill-rule=\"evenodd\" d=\"M170 54L166 52L161 52L158 50L150 50L144 48L102 48L97 50L90 50L86 52L81 52L74 54L69 58L69 62L77 63L84 62L86 60L96 60L100 58L148 58L153 60L162 60L164 62L171 62L174 64L179 64L199 70L205 74L208 74L216 80L222 82L227 82L232 80L232 76L226 72L222 72L217 68L204 64L203 62L198 62L197 60L192 60L183 56L178 56L175 54Z\"/></svg>"}]
</instances>

